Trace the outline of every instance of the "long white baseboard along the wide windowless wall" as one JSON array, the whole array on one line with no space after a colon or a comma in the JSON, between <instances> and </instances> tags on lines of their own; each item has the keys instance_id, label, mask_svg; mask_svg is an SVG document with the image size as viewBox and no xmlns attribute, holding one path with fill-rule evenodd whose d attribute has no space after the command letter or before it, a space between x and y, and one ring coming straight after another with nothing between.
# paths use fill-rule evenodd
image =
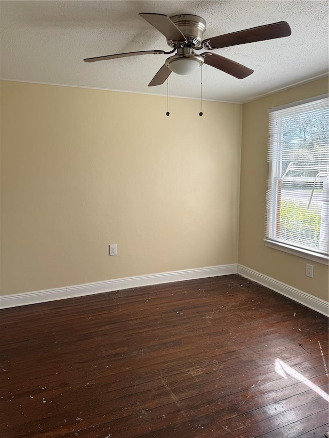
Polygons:
<instances>
[{"instance_id":1,"label":"long white baseboard along the wide windowless wall","mask_svg":"<svg viewBox=\"0 0 329 438\"><path fill-rule=\"evenodd\" d=\"M136 288L151 284L170 283L173 281L191 280L194 278L217 277L237 273L237 263L208 268L187 269L184 271L163 272L159 274L140 275L136 277L118 278L115 280L97 281L64 288L46 289L43 291L22 294L3 295L0 297L0 308L27 306L38 302L55 301L84 295L113 292L122 289Z\"/></svg>"}]
</instances>

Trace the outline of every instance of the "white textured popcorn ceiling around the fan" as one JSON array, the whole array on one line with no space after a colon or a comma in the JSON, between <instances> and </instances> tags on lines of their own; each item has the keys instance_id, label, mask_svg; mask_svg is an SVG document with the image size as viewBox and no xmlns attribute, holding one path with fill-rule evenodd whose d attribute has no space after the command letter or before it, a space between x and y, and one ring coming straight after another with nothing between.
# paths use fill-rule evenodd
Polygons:
<instances>
[{"instance_id":1,"label":"white textured popcorn ceiling around the fan","mask_svg":"<svg viewBox=\"0 0 329 438\"><path fill-rule=\"evenodd\" d=\"M166 55L87 64L84 58L137 50L169 51L165 37L139 12L195 14L205 37L287 21L291 36L215 50L252 68L239 80L203 67L203 98L246 102L320 77L328 71L328 3L291 1L2 1L1 78L166 94L167 82L148 87ZM199 98L200 70L171 74L171 96Z\"/></svg>"}]
</instances>

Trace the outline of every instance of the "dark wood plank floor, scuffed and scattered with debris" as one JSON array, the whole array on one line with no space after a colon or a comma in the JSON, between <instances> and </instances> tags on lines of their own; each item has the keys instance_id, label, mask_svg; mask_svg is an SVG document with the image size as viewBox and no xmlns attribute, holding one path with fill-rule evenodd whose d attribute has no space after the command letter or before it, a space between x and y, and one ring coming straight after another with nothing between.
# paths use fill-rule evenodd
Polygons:
<instances>
[{"instance_id":1,"label":"dark wood plank floor, scuffed and scattered with debris","mask_svg":"<svg viewBox=\"0 0 329 438\"><path fill-rule=\"evenodd\" d=\"M1 312L2 438L310 438L327 318L238 275Z\"/></svg>"}]
</instances>

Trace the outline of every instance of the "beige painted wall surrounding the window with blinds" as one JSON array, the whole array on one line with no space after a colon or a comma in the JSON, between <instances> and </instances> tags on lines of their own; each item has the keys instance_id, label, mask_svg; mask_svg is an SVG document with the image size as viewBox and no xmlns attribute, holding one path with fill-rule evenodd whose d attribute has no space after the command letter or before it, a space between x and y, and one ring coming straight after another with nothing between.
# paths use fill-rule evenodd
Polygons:
<instances>
[{"instance_id":1,"label":"beige painted wall surrounding the window with blinds","mask_svg":"<svg viewBox=\"0 0 329 438\"><path fill-rule=\"evenodd\" d=\"M264 215L268 179L267 109L328 92L326 78L270 94L243 105L239 263L315 297L328 300L328 266L265 246ZM306 263L314 278L305 276Z\"/></svg>"}]
</instances>

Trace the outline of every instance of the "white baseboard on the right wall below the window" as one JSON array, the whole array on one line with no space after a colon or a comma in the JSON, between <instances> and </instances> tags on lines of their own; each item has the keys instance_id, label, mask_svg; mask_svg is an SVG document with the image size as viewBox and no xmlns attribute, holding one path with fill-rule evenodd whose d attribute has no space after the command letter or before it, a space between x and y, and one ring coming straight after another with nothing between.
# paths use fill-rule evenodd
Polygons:
<instances>
[{"instance_id":1,"label":"white baseboard on the right wall below the window","mask_svg":"<svg viewBox=\"0 0 329 438\"><path fill-rule=\"evenodd\" d=\"M309 295L306 292L293 288L288 284L282 283L281 281L275 280L267 275L260 274L259 272L247 268L241 264L238 265L237 273L243 277L262 284L266 288L291 298L294 301L304 304L304 306L308 307L309 309L313 309L319 313L322 313L322 315L329 316L329 305L326 301L320 298Z\"/></svg>"}]
</instances>

